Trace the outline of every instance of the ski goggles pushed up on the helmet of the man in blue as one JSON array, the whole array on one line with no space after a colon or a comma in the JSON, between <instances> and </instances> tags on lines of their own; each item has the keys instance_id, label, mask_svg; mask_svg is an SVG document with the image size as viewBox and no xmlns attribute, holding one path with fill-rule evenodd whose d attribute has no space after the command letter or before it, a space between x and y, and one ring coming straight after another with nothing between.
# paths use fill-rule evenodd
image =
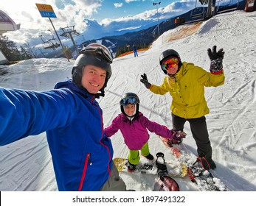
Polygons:
<instances>
[{"instance_id":1,"label":"ski goggles pushed up on the helmet of the man in blue","mask_svg":"<svg viewBox=\"0 0 256 206\"><path fill-rule=\"evenodd\" d=\"M109 49L100 43L90 43L80 51L80 54L100 54L108 63L113 62Z\"/></svg>"}]
</instances>

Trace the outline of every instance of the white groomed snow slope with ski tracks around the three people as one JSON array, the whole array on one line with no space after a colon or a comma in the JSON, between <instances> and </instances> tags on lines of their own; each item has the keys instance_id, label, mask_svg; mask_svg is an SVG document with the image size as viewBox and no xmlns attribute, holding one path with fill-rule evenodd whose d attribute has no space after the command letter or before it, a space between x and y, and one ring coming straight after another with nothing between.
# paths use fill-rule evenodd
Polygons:
<instances>
[{"instance_id":1,"label":"white groomed snow slope with ski tracks around the three people","mask_svg":"<svg viewBox=\"0 0 256 206\"><path fill-rule=\"evenodd\" d=\"M187 27L188 26L188 27ZM120 113L119 101L123 93L132 91L139 95L140 111L151 121L171 127L171 97L158 96L146 90L139 82L146 73L152 84L160 85L165 75L159 67L159 54L165 49L176 49L181 60L195 63L206 70L210 60L207 49L213 45L224 48L226 82L218 88L206 88L210 107L207 126L212 143L212 158L217 164L214 174L232 191L256 191L256 12L241 11L217 15L205 21L193 33L187 26L165 32L151 49L139 52L139 57L129 54L114 60L113 74L108 82L105 97L100 99L105 126ZM182 29L183 28L183 29ZM187 37L179 38L184 32ZM180 34L180 35L177 35ZM173 40L173 36L178 38ZM66 59L33 59L0 70L0 86L33 90L52 89L55 82L70 77L72 64ZM7 74L4 74L5 72ZM2 74L2 75L1 75ZM193 154L196 144L185 124L187 138L184 143ZM122 135L111 137L114 157L127 157L128 149ZM149 141L152 154L164 152L172 160L170 151L151 133ZM0 147L0 191L58 191L45 133L30 136ZM128 188L151 191L153 177L120 173ZM177 178L181 191L198 191L188 178Z\"/></svg>"}]
</instances>

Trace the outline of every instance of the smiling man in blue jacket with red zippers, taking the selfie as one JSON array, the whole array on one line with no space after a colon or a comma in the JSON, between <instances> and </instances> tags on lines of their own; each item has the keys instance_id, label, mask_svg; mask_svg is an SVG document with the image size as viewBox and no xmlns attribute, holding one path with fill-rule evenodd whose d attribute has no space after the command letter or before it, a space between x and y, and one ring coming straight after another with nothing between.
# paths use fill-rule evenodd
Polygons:
<instances>
[{"instance_id":1,"label":"smiling man in blue jacket with red zippers, taking the selfie","mask_svg":"<svg viewBox=\"0 0 256 206\"><path fill-rule=\"evenodd\" d=\"M0 146L46 131L59 191L125 191L95 100L111 77L111 53L97 43L80 53L72 79L54 90L0 88Z\"/></svg>"}]
</instances>

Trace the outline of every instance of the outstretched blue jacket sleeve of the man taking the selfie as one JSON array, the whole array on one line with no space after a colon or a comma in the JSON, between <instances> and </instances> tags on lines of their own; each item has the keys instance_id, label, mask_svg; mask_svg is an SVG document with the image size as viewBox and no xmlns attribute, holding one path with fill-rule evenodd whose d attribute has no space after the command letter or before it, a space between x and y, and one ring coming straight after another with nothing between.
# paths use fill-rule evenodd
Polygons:
<instances>
[{"instance_id":1,"label":"outstretched blue jacket sleeve of the man taking the selfie","mask_svg":"<svg viewBox=\"0 0 256 206\"><path fill-rule=\"evenodd\" d=\"M64 127L74 118L70 90L8 90L0 88L0 146L28 135Z\"/></svg>"}]
</instances>

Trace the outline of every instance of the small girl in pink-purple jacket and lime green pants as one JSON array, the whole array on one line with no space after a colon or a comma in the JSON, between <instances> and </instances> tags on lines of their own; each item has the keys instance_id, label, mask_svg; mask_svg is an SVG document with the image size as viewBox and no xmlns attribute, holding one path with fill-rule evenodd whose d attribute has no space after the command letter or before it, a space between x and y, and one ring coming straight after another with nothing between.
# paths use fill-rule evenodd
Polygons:
<instances>
[{"instance_id":1,"label":"small girl in pink-purple jacket and lime green pants","mask_svg":"<svg viewBox=\"0 0 256 206\"><path fill-rule=\"evenodd\" d=\"M104 129L105 135L110 138L119 129L125 140L125 144L130 149L128 154L128 171L134 171L139 163L139 150L142 156L148 160L153 160L153 155L149 152L148 139L150 132L156 133L165 138L176 137L176 131L168 129L156 122L150 121L139 112L139 97L136 93L125 93L120 100L122 113L112 121L109 127ZM148 130L147 130L148 129ZM179 136L184 138L185 136Z\"/></svg>"}]
</instances>

